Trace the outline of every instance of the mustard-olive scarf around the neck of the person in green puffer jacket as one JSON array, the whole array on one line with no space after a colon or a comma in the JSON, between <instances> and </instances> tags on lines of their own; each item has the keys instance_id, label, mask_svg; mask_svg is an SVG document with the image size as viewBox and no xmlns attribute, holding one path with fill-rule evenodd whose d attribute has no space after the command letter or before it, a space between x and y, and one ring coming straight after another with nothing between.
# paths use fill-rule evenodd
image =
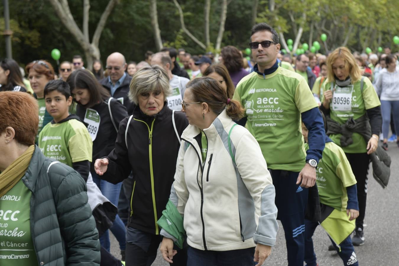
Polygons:
<instances>
[{"instance_id":1,"label":"mustard-olive scarf around the neck of the person in green puffer jacket","mask_svg":"<svg viewBox=\"0 0 399 266\"><path fill-rule=\"evenodd\" d=\"M34 151L35 145L30 146L28 150L0 173L0 197L6 195L6 193L24 176Z\"/></svg>"}]
</instances>

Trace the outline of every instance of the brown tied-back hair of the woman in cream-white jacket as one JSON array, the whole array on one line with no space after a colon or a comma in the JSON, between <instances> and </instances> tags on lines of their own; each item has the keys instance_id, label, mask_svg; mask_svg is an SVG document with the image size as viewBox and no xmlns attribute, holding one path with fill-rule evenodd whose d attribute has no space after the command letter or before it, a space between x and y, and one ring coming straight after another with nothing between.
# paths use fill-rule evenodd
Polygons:
<instances>
[{"instance_id":1,"label":"brown tied-back hair of the woman in cream-white jacket","mask_svg":"<svg viewBox=\"0 0 399 266\"><path fill-rule=\"evenodd\" d=\"M186 88L192 91L194 102L206 102L215 114L221 114L226 108L227 115L233 120L243 118L244 108L241 103L228 99L226 91L216 79L199 77L187 83Z\"/></svg>"}]
</instances>

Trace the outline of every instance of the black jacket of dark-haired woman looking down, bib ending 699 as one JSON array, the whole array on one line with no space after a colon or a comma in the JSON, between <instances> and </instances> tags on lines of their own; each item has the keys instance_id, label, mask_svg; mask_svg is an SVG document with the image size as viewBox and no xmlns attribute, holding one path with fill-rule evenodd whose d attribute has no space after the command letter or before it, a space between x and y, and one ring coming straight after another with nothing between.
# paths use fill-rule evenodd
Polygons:
<instances>
[{"instance_id":1,"label":"black jacket of dark-haired woman looking down, bib ending 699","mask_svg":"<svg viewBox=\"0 0 399 266\"><path fill-rule=\"evenodd\" d=\"M117 130L111 120L109 113L108 102L109 99L96 104L91 109L96 110L100 115L100 125L98 128L96 139L93 141L93 161L90 165L90 171L94 173L94 163L97 159L107 156L115 147L115 140L117 139ZM111 99L111 113L114 118L115 125L119 128L120 121L128 116L126 107L123 106L119 100ZM80 104L76 106L76 115L83 121L85 119L86 108Z\"/></svg>"}]
</instances>

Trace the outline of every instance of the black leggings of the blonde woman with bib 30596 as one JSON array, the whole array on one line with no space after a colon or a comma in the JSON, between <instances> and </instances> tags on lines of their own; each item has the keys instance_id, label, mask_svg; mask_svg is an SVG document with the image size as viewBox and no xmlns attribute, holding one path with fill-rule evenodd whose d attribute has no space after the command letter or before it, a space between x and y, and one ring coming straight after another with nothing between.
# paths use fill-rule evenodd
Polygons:
<instances>
[{"instance_id":1,"label":"black leggings of the blonde woman with bib 30596","mask_svg":"<svg viewBox=\"0 0 399 266\"><path fill-rule=\"evenodd\" d=\"M370 156L367 153L345 153L356 177L358 189L359 217L356 219L356 229L363 230L363 220L366 211L367 174L369 171Z\"/></svg>"}]
</instances>

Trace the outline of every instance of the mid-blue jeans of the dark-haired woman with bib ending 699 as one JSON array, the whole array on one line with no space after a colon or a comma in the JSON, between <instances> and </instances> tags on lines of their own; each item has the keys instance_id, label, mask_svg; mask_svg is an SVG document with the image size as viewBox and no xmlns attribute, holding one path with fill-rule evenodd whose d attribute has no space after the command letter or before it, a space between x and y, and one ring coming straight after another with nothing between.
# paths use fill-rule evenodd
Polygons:
<instances>
[{"instance_id":1,"label":"mid-blue jeans of the dark-haired woman with bib ending 699","mask_svg":"<svg viewBox=\"0 0 399 266\"><path fill-rule=\"evenodd\" d=\"M122 182L114 185L105 180L101 180L96 173L91 173L93 177L93 182L96 183L97 187L101 190L101 193L111 201L113 205L118 207L120 188L122 187ZM115 221L110 228L111 232L117 238L119 242L120 250L126 249L126 227L119 216L115 217ZM108 230L100 237L101 246L103 246L108 252L110 248L109 233Z\"/></svg>"}]
</instances>

